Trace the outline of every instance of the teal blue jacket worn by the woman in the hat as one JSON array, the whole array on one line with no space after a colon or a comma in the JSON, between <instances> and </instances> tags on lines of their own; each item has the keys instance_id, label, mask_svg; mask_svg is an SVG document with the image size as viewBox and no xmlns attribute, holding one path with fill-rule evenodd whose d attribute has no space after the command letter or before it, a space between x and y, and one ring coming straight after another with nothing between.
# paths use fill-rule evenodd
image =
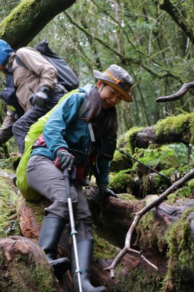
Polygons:
<instances>
[{"instance_id":1,"label":"teal blue jacket worn by the woman in the hat","mask_svg":"<svg viewBox=\"0 0 194 292\"><path fill-rule=\"evenodd\" d=\"M87 84L79 88L79 92L72 93L65 98L48 118L43 129L43 136L46 147L37 147L32 155L42 155L54 161L56 152L60 148L72 148L80 151L87 151L91 142L88 124L79 119L79 110L82 106L85 95L93 86ZM88 112L86 112L87 115ZM97 159L97 166L94 165L94 175L98 185L108 185L110 163L106 159Z\"/></svg>"}]
</instances>

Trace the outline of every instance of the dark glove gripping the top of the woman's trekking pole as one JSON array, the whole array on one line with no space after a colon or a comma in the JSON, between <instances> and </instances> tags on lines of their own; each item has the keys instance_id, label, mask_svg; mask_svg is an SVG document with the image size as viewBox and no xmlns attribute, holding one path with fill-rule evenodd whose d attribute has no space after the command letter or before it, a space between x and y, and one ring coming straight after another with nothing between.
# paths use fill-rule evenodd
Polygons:
<instances>
[{"instance_id":1,"label":"dark glove gripping the top of the woman's trekking pole","mask_svg":"<svg viewBox=\"0 0 194 292\"><path fill-rule=\"evenodd\" d=\"M64 170L66 167L71 168L73 161L74 161L74 156L70 154L67 150L65 149L60 149L56 153L57 157L55 159L55 166L59 164L60 169ZM57 166L58 167L58 166Z\"/></svg>"}]
</instances>

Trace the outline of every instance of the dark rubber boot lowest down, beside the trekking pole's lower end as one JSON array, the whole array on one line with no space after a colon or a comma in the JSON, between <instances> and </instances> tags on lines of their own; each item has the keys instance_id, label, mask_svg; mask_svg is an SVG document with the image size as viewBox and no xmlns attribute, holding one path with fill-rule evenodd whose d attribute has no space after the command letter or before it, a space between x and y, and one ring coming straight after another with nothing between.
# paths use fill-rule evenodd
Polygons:
<instances>
[{"instance_id":1,"label":"dark rubber boot lowest down, beside the trekking pole's lower end","mask_svg":"<svg viewBox=\"0 0 194 292\"><path fill-rule=\"evenodd\" d=\"M81 282L83 292L107 292L106 287L94 287L90 283L91 263L93 255L93 240L85 239L77 242L77 251L79 265L82 270ZM73 283L73 292L79 292L78 276L76 271L76 262L73 246L71 249L71 276Z\"/></svg>"}]
</instances>

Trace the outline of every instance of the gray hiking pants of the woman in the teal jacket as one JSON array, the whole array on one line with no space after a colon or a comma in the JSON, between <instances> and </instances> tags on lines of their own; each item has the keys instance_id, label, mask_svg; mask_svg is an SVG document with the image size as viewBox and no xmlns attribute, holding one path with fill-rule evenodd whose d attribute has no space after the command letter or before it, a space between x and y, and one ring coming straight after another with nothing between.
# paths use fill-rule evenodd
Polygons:
<instances>
[{"instance_id":1,"label":"gray hiking pants of the woman in the teal jacket","mask_svg":"<svg viewBox=\"0 0 194 292\"><path fill-rule=\"evenodd\" d=\"M51 206L44 209L45 215L53 213L64 218L68 224L70 217L63 172L48 158L34 155L28 162L27 180L30 187L53 202ZM78 232L77 241L93 239L91 213L79 182L75 181L71 186L71 201L75 230ZM70 224L68 229L71 230Z\"/></svg>"}]
</instances>

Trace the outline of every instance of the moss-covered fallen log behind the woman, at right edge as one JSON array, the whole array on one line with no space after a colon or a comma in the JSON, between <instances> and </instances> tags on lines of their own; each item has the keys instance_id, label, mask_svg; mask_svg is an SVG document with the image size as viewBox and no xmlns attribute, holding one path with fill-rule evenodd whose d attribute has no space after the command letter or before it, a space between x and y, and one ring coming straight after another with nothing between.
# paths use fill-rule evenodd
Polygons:
<instances>
[{"instance_id":1,"label":"moss-covered fallen log behind the woman, at right edge","mask_svg":"<svg viewBox=\"0 0 194 292\"><path fill-rule=\"evenodd\" d=\"M183 143L194 145L194 112L167 117L156 125L146 128L131 128L118 140L118 147L148 148L150 145Z\"/></svg>"}]
</instances>

